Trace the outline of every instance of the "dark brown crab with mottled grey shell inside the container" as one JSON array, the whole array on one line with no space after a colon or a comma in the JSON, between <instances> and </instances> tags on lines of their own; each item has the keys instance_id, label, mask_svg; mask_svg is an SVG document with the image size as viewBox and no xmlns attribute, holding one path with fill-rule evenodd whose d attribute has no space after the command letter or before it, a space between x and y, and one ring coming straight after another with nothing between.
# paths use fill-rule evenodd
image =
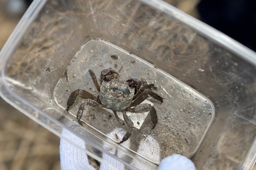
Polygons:
<instances>
[{"instance_id":1,"label":"dark brown crab with mottled grey shell inside the container","mask_svg":"<svg viewBox=\"0 0 256 170\"><path fill-rule=\"evenodd\" d=\"M99 85L93 71L89 70L89 73L92 77L94 85L96 86L96 89L99 91L100 94L96 97L83 89L77 89L70 94L67 102L68 111L75 102L77 96L84 99L84 101L78 108L76 115L77 122L80 125L83 126L81 122L81 117L83 115L84 107L85 105L87 105L89 107L107 108L112 110L118 122L119 118L116 112L120 111L123 113L124 122L126 123L129 130L125 133L119 144L128 140L128 138L132 134L132 129L134 127L132 120L126 114L127 111L133 113L144 113L149 111L151 115L151 121L153 123L153 127L151 129L154 129L156 127L158 121L156 109L148 103L140 104L141 102L146 100L148 96L151 96L154 99L163 103L163 97L152 91L146 90L154 87L154 84L147 84L145 86L142 86L141 81L138 79L121 81L119 80L120 75L116 71L112 69L104 69L101 71L100 74L102 81L101 85Z\"/></svg>"}]
</instances>

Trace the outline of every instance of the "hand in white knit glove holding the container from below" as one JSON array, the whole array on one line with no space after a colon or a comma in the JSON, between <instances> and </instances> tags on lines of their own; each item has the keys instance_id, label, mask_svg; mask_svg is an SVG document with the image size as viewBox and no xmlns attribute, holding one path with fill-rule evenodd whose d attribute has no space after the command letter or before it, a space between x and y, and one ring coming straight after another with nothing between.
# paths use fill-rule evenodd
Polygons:
<instances>
[{"instance_id":1,"label":"hand in white knit glove holding the container from below","mask_svg":"<svg viewBox=\"0 0 256 170\"><path fill-rule=\"evenodd\" d=\"M114 131L112 131L108 136L115 137L117 134L118 136L124 136L125 131L121 131L120 128L116 128ZM77 145L81 146L85 149L85 142L81 140L80 138L77 138L75 135L69 133L68 131L63 130L62 135L64 135L66 138L71 140L72 142L76 143ZM152 144L152 147L150 147L150 150L148 150L148 143ZM127 140L123 143L124 146L129 147L130 146L130 140ZM115 151L113 151L115 153ZM158 143L154 138L151 136L148 136L145 140L140 142L140 146L137 151L139 154L144 155L151 160L159 161L160 159L160 148ZM114 154L113 153L113 154ZM122 157L124 153L117 153L118 157ZM114 166L118 170L124 170L124 165L117 161L116 159L108 156L107 154L102 155L102 159ZM94 167L92 167L88 162L88 157L85 152L81 151L80 149L76 148L75 146L71 145L67 141L60 139L60 164L62 170L95 170ZM131 165L138 167L138 169L145 169L143 164L140 164L140 162L134 160L131 162ZM110 170L109 166L105 164L100 165L100 170ZM179 154L173 154L171 156L168 156L164 158L159 166L158 170L186 170L196 169L194 163L188 159L185 156L179 155Z\"/></svg>"}]
</instances>

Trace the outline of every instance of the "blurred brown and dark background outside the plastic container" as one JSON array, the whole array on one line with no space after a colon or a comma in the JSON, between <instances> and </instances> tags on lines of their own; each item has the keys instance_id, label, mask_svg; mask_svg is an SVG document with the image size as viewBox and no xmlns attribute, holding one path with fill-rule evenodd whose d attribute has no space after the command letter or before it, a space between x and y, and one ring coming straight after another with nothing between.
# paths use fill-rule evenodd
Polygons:
<instances>
[{"instance_id":1,"label":"blurred brown and dark background outside the plastic container","mask_svg":"<svg viewBox=\"0 0 256 170\"><path fill-rule=\"evenodd\" d=\"M32 0L0 0L0 49ZM256 1L165 0L256 51ZM0 98L0 170L60 169L60 138ZM256 167L253 167L256 170Z\"/></svg>"}]
</instances>

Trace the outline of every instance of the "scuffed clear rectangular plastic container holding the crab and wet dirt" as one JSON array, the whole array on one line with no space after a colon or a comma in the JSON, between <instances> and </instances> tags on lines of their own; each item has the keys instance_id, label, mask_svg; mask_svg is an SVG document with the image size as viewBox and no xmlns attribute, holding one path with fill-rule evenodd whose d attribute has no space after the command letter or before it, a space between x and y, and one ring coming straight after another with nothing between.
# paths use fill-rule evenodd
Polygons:
<instances>
[{"instance_id":1,"label":"scuffed clear rectangular plastic container holding the crab and wet dirt","mask_svg":"<svg viewBox=\"0 0 256 170\"><path fill-rule=\"evenodd\" d=\"M156 169L173 153L198 169L254 164L256 54L162 1L35 0L0 57L1 97L60 138L68 140L63 129L78 136L108 166L102 152L132 169ZM76 121L81 98L65 110L76 89L98 95L88 70L100 81L106 68L155 84L164 102L146 101L157 111L154 130L148 113L130 114L133 134L117 144L122 136L109 134L127 127L111 110L85 107L84 127ZM159 159L140 152L149 136Z\"/></svg>"}]
</instances>

